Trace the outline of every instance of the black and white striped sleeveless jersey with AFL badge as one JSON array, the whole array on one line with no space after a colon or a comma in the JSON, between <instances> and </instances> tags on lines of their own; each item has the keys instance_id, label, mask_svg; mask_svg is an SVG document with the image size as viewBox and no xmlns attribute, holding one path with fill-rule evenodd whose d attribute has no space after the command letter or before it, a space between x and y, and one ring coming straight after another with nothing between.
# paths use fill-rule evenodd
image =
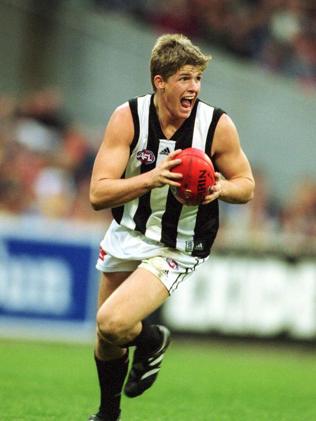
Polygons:
<instances>
[{"instance_id":1,"label":"black and white striped sleeveless jersey with AFL badge","mask_svg":"<svg viewBox=\"0 0 316 421\"><path fill-rule=\"evenodd\" d=\"M176 149L198 148L211 158L214 131L224 113L220 108L197 100L190 117L170 140L166 140L153 94L134 98L129 101L129 106L135 135L122 178L150 171ZM123 206L113 208L112 214L117 223L197 257L210 254L218 231L217 199L207 205L185 206L176 200L169 185L154 188Z\"/></svg>"}]
</instances>

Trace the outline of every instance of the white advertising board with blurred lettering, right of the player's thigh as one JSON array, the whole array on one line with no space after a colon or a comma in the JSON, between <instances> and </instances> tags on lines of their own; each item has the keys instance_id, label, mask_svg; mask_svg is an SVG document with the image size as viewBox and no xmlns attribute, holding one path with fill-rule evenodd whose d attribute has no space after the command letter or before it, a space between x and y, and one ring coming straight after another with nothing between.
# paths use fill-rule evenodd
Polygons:
<instances>
[{"instance_id":1,"label":"white advertising board with blurred lettering, right of the player's thigh","mask_svg":"<svg viewBox=\"0 0 316 421\"><path fill-rule=\"evenodd\" d=\"M263 257L212 256L167 300L178 330L292 337L316 335L316 264Z\"/></svg>"}]
</instances>

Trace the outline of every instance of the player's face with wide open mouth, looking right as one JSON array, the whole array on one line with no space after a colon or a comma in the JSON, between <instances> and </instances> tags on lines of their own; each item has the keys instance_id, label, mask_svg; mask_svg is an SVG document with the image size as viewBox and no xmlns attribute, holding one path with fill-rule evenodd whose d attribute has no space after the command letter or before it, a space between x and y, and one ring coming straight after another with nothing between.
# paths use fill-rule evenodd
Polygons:
<instances>
[{"instance_id":1,"label":"player's face with wide open mouth, looking right","mask_svg":"<svg viewBox=\"0 0 316 421\"><path fill-rule=\"evenodd\" d=\"M171 118L188 118L201 90L202 72L186 65L162 81L162 98Z\"/></svg>"}]
</instances>

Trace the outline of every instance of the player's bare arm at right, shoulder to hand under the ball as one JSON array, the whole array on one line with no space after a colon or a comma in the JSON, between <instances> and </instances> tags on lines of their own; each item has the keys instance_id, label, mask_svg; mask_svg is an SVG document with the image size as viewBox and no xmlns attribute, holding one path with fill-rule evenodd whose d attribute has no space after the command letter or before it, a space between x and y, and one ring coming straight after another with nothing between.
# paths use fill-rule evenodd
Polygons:
<instances>
[{"instance_id":1,"label":"player's bare arm at right, shoulder to hand under the ball","mask_svg":"<svg viewBox=\"0 0 316 421\"><path fill-rule=\"evenodd\" d=\"M211 195L205 198L205 203L217 197L228 203L246 203L253 198L254 179L249 162L241 149L239 136L234 123L223 114L217 124L212 156L216 167L225 177L215 173L216 184Z\"/></svg>"}]
</instances>

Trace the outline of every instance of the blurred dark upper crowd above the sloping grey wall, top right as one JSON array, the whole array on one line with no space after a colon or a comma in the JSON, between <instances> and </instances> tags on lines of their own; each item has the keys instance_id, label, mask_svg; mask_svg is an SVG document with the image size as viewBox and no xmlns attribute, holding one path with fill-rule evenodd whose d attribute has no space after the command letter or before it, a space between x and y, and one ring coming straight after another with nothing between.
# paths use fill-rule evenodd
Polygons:
<instances>
[{"instance_id":1,"label":"blurred dark upper crowd above the sloping grey wall, top right","mask_svg":"<svg viewBox=\"0 0 316 421\"><path fill-rule=\"evenodd\" d=\"M316 91L315 0L95 0L158 33L182 33Z\"/></svg>"}]
</instances>

